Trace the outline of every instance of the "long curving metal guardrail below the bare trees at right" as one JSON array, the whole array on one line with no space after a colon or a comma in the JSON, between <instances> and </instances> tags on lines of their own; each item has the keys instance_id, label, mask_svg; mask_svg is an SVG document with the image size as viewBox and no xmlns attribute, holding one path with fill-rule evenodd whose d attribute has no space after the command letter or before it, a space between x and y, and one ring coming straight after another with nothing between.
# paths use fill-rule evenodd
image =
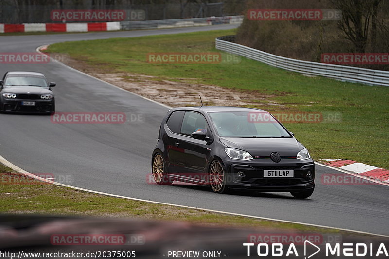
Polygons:
<instances>
[{"instance_id":1,"label":"long curving metal guardrail below the bare trees at right","mask_svg":"<svg viewBox=\"0 0 389 259\"><path fill-rule=\"evenodd\" d=\"M263 62L267 65L308 75L319 75L340 81L389 86L389 71L310 62L277 56L234 43L235 36L216 38L216 49Z\"/></svg>"}]
</instances>

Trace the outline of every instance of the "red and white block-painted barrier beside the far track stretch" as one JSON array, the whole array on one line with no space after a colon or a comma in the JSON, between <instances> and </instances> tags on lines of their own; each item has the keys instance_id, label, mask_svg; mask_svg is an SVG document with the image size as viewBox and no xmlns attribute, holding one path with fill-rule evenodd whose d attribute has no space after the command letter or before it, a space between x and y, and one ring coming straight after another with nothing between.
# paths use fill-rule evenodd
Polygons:
<instances>
[{"instance_id":1,"label":"red and white block-painted barrier beside the far track stretch","mask_svg":"<svg viewBox=\"0 0 389 259\"><path fill-rule=\"evenodd\" d=\"M75 22L75 23L0 23L0 33L13 32L101 32L119 31L120 22Z\"/></svg>"}]
</instances>

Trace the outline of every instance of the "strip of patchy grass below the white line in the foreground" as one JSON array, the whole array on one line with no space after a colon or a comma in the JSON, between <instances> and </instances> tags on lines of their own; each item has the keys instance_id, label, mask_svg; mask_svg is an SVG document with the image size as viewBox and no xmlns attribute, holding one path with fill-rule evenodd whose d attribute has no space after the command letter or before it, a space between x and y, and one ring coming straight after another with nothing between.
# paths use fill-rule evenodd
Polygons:
<instances>
[{"instance_id":1,"label":"strip of patchy grass below the white line in the foreground","mask_svg":"<svg viewBox=\"0 0 389 259\"><path fill-rule=\"evenodd\" d=\"M25 185L7 184L10 183L7 180L10 175L17 177L16 179L19 182L22 182L22 179L26 179L21 174L0 164L0 213L130 217L150 220L185 221L219 226L229 225L261 229L315 231L316 233L342 233L342 231L336 229L259 220L109 197L37 181L34 184Z\"/></svg>"}]
</instances>

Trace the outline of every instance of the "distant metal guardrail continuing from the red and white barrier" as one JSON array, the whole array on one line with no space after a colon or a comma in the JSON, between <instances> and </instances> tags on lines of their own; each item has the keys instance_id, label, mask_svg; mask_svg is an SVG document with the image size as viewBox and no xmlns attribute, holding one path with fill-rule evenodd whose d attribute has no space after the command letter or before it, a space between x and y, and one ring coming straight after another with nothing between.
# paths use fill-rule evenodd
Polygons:
<instances>
[{"instance_id":1,"label":"distant metal guardrail continuing from the red and white barrier","mask_svg":"<svg viewBox=\"0 0 389 259\"><path fill-rule=\"evenodd\" d=\"M167 29L178 27L209 26L215 24L240 24L243 16L222 16L171 20L121 21L121 30Z\"/></svg>"}]
</instances>

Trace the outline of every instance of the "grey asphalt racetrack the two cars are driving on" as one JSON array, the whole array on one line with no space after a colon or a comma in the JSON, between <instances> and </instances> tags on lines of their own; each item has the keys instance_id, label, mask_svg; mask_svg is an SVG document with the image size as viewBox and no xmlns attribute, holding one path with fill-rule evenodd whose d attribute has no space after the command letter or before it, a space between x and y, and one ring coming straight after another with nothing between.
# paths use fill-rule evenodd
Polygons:
<instances>
[{"instance_id":1,"label":"grey asphalt racetrack the two cars are driving on","mask_svg":"<svg viewBox=\"0 0 389 259\"><path fill-rule=\"evenodd\" d=\"M0 52L34 52L54 42L230 29L231 25L166 30L0 37ZM58 63L3 64L8 70L39 71L53 89L57 112L124 112L142 121L125 124L55 124L50 116L0 114L0 155L31 173L66 178L65 184L150 201L389 235L388 186L322 185L309 199L289 193L220 195L206 186L150 183L151 152L168 108ZM299 132L294 132L299 138ZM309 148L309 147L308 147Z\"/></svg>"}]
</instances>

